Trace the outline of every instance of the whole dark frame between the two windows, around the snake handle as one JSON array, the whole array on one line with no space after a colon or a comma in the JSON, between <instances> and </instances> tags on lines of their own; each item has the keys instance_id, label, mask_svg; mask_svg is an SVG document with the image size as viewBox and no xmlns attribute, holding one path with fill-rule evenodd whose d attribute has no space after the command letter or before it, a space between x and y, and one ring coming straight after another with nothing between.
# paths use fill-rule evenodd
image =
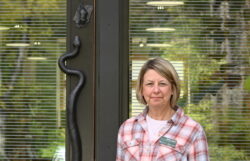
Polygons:
<instances>
[{"instance_id":1,"label":"whole dark frame between the two windows, around the snake handle","mask_svg":"<svg viewBox=\"0 0 250 161\"><path fill-rule=\"evenodd\" d=\"M87 0L93 5L90 23L77 28L73 22L78 0L67 1L67 51L75 35L81 39L77 58L68 66L86 76L78 99L77 121L83 161L115 160L120 124L128 118L128 0ZM77 78L67 77L67 100ZM66 155L73 155L67 137Z\"/></svg>"}]
</instances>

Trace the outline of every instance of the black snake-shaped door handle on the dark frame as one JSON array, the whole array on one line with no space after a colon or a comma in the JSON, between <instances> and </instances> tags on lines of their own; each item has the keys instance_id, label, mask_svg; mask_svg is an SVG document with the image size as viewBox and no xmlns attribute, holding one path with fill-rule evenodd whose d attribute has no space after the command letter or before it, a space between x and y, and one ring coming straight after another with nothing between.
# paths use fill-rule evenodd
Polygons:
<instances>
[{"instance_id":1,"label":"black snake-shaped door handle on the dark frame","mask_svg":"<svg viewBox=\"0 0 250 161\"><path fill-rule=\"evenodd\" d=\"M73 41L74 50L69 53L65 53L58 59L58 65L60 69L66 73L67 75L74 75L78 77L78 83L76 84L75 88L71 91L67 107L66 107L66 115L67 115L67 128L68 128L68 134L71 141L71 147L72 147L72 161L81 161L82 160L82 144L81 144L81 137L79 133L79 127L77 124L76 119L76 110L77 110L77 99L79 96L79 93L84 85L85 82L85 76L83 72L75 69L70 69L66 65L66 60L75 57L80 49L81 42L80 37L75 36L75 39Z\"/></svg>"}]
</instances>

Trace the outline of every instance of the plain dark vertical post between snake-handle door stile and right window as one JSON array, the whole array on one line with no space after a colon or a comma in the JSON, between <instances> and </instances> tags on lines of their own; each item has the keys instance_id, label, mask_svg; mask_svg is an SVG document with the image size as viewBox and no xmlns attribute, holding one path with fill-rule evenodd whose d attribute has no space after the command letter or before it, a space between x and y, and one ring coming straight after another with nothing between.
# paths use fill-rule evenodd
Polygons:
<instances>
[{"instance_id":1,"label":"plain dark vertical post between snake-handle door stile and right window","mask_svg":"<svg viewBox=\"0 0 250 161\"><path fill-rule=\"evenodd\" d=\"M128 118L128 1L96 0L97 161L115 160L120 124Z\"/></svg>"}]
</instances>

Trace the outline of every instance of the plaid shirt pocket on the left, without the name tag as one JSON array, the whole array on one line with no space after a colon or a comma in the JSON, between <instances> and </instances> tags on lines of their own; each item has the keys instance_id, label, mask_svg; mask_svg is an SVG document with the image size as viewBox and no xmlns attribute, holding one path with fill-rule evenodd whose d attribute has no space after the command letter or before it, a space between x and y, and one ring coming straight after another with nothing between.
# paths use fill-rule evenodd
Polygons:
<instances>
[{"instance_id":1,"label":"plaid shirt pocket on the left, without the name tag","mask_svg":"<svg viewBox=\"0 0 250 161\"><path fill-rule=\"evenodd\" d=\"M138 140L125 141L122 145L124 161L140 161L140 143Z\"/></svg>"}]
</instances>

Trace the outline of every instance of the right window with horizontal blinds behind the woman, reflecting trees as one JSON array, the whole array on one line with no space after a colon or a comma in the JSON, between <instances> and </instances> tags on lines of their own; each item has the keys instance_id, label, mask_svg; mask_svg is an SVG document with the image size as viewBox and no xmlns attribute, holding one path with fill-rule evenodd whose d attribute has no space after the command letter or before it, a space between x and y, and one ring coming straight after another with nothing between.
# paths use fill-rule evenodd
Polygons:
<instances>
[{"instance_id":1,"label":"right window with horizontal blinds behind the woman, reflecting trees","mask_svg":"<svg viewBox=\"0 0 250 161\"><path fill-rule=\"evenodd\" d=\"M130 0L130 117L142 64L163 57L181 79L178 104L204 127L212 161L250 160L250 3Z\"/></svg>"}]
</instances>

